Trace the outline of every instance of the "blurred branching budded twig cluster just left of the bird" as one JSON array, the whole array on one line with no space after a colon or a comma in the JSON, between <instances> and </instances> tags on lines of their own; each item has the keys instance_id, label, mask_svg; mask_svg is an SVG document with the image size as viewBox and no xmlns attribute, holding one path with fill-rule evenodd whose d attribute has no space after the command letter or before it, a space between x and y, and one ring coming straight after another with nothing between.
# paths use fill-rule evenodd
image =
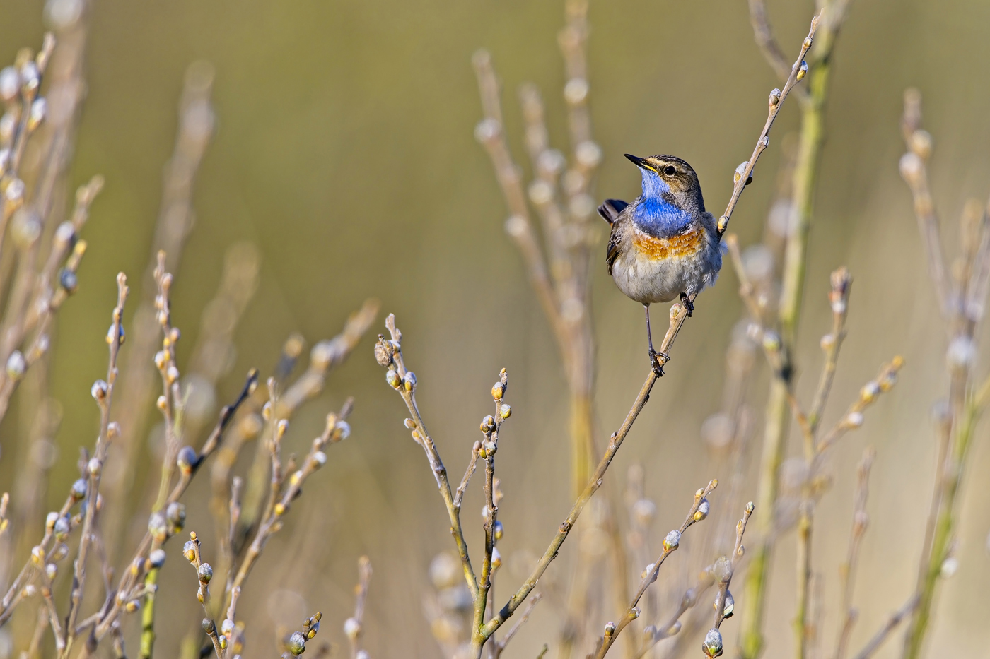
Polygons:
<instances>
[{"instance_id":1,"label":"blurred branching budded twig cluster just left of the bird","mask_svg":"<svg viewBox=\"0 0 990 659\"><path fill-rule=\"evenodd\" d=\"M567 81L566 103L570 157L550 147L545 108L535 85L521 89L526 146L534 180L524 191L523 173L513 160L502 121L499 83L491 55L474 54L484 119L474 135L491 157L510 218L506 231L526 262L530 282L544 309L563 361L570 394L571 487L581 491L595 453L591 393L594 380L594 335L590 313L591 249L599 240L591 226L591 196L602 149L593 140L588 111L588 2L567 0L566 24L558 36ZM539 237L527 197L541 219ZM541 245L541 240L543 245Z\"/></svg>"}]
</instances>

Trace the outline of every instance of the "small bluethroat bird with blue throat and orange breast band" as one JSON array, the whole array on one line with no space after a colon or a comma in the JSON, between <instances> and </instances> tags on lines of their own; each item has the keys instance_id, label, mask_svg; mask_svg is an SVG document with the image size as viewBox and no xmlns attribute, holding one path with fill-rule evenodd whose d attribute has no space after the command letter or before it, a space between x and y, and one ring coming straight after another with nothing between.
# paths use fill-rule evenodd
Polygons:
<instances>
[{"instance_id":1,"label":"small bluethroat bird with blue throat and orange breast band","mask_svg":"<svg viewBox=\"0 0 990 659\"><path fill-rule=\"evenodd\" d=\"M691 165L672 155L626 157L643 173L643 194L632 204L607 199L598 213L612 225L609 274L620 291L644 306L649 363L660 376L656 357L670 357L653 350L649 305L680 297L690 317L694 297L719 276L722 245Z\"/></svg>"}]
</instances>

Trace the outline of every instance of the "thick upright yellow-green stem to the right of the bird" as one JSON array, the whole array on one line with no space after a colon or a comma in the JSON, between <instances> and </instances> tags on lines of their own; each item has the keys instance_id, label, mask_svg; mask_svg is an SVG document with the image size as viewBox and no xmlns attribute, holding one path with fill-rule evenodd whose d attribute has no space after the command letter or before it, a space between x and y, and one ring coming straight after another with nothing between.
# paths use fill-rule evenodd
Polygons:
<instances>
[{"instance_id":1,"label":"thick upright yellow-green stem to the right of the bird","mask_svg":"<svg viewBox=\"0 0 990 659\"><path fill-rule=\"evenodd\" d=\"M787 346L795 344L804 297L808 232L811 228L815 184L825 137L824 105L829 68L828 57L812 67L809 72L808 98L802 106L801 138L794 167L792 223L784 251L783 286L780 294L780 333ZM774 543L774 510L780 485L780 463L787 448L789 419L787 384L780 378L774 378L766 403L756 511L752 519L762 540L753 552L745 580L743 659L755 659L763 647L763 608Z\"/></svg>"}]
</instances>

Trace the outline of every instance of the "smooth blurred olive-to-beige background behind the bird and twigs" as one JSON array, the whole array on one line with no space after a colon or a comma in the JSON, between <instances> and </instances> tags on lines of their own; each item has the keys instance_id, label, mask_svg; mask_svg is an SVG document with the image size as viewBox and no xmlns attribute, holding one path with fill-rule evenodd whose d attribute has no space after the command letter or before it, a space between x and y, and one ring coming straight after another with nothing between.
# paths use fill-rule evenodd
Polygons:
<instances>
[{"instance_id":1,"label":"smooth blurred olive-to-beige background behind the bird and twigs","mask_svg":"<svg viewBox=\"0 0 990 659\"><path fill-rule=\"evenodd\" d=\"M791 57L814 7L771 1L768 8ZM0 2L0 61L13 61L19 47L38 47L43 10L36 0ZM98 413L88 391L106 369L103 337L115 302L114 275L124 271L139 282L147 267L162 167L173 149L191 62L206 60L215 69L217 127L195 181L195 227L175 270L172 322L182 329L186 348L179 349L180 367L190 356L202 309L220 284L224 254L235 243L256 246L260 270L235 330L235 365L219 385L222 401L236 396L250 366L262 376L270 373L291 332L312 345L338 333L366 298L381 301L369 335L289 429L286 444L303 452L327 412L347 396L355 399L350 438L329 449L327 467L307 484L251 577L241 610L248 621L247 656L274 654L271 630L297 626L304 613L316 610L324 613L321 636L346 646L340 623L352 612L361 554L374 566L364 636L370 655L441 656L423 599L430 592L430 563L451 543L422 449L402 426L404 407L372 359L373 334L384 331L384 314L394 313L403 331L424 418L451 474L459 475L478 438L477 424L490 412L488 391L499 369L509 371L514 414L498 453L503 555L542 553L566 515L571 495L563 373L522 259L505 235L508 213L491 164L473 138L481 108L470 63L478 47L492 53L518 161L526 160L516 102L523 82L543 91L550 139L563 147L564 73L556 45L562 23L562 2L524 0L101 0L91 8L87 92L70 183L102 173L106 186L83 232L89 252L79 292L60 312L54 341L51 391L63 420L52 481L74 478L77 446L95 437ZM745 3L592 0L589 23L589 102L604 152L596 198L638 194L639 173L622 153L667 152L695 167L709 210L721 212L732 172L762 126L767 92L779 84L753 43ZM831 323L828 274L841 264L854 284L826 424L839 418L881 361L898 353L906 359L898 387L833 452L835 485L818 513L816 569L825 577L825 637L832 639L841 615L832 576L844 556L855 464L863 446L875 446L872 524L855 591L861 615L853 647L913 588L933 481L931 409L947 386L937 301L910 194L897 172L904 150L903 92L916 86L924 94L926 128L936 144L933 191L946 244L954 245L965 200L985 199L990 191L988 31L990 5L981 0L864 0L852 3L836 50L798 390L806 398L814 390L819 338ZM743 245L762 232L780 144L797 126L797 107L784 108L734 216ZM646 366L642 308L607 277L604 250L602 243L592 294L596 436L602 440L625 417ZM700 297L667 376L610 471L618 492L629 466L643 464L645 492L658 506L657 532L680 523L698 487L727 477L712 472L700 427L721 403L726 348L741 312L737 289L727 268ZM764 373L751 395L757 410L765 385ZM0 426L3 491L15 476L17 463L9 457L19 427L16 414ZM979 429L963 486L958 571L940 593L931 656L973 656L972 648L990 640L982 606L990 584L985 438ZM191 503L205 501L206 481L186 495L187 529L211 524L205 505ZM754 497L749 479L743 500ZM49 506L62 498L63 490L53 488ZM480 547L477 483L465 501L468 542ZM720 503L717 492L713 509ZM685 545L690 541L688 534ZM173 560L163 583L176 587L162 590L160 656L175 656L181 637L201 616L179 545L168 545ZM573 560L568 546L548 578L567 574ZM207 556L210 551L204 545ZM786 656L792 647L793 551L788 536L776 553L766 618L769 657ZM679 558L664 570L684 570L687 563ZM505 600L519 581L503 575L496 600ZM601 622L618 614L606 612ZM559 612L542 604L507 656L533 657L545 642L552 646L558 623ZM738 624L730 619L723 627L727 646ZM899 636L886 651L878 656L900 651Z\"/></svg>"}]
</instances>

